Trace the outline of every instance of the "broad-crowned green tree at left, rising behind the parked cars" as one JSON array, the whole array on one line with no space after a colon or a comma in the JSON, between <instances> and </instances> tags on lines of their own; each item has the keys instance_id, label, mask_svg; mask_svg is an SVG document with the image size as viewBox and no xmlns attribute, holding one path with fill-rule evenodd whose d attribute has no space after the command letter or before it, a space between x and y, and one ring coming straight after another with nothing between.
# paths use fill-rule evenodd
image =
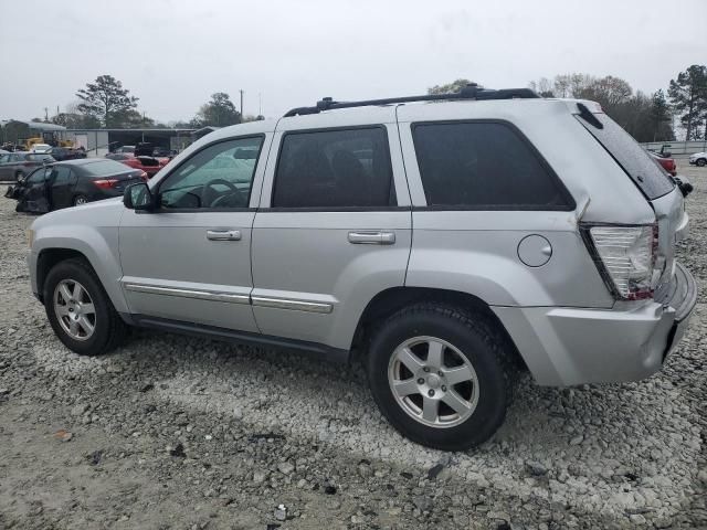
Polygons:
<instances>
[{"instance_id":1,"label":"broad-crowned green tree at left, rising behind the parked cars","mask_svg":"<svg viewBox=\"0 0 707 530\"><path fill-rule=\"evenodd\" d=\"M117 127L126 113L135 110L137 97L112 75L99 75L94 83L87 83L76 96L81 99L77 109L81 114L101 120L104 127Z\"/></svg>"}]
</instances>

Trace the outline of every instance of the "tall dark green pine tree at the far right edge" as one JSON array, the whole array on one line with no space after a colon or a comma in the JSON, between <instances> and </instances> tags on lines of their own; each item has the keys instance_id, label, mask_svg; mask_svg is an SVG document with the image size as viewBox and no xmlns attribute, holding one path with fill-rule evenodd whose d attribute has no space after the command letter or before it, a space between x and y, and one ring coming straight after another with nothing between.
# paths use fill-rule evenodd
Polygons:
<instances>
[{"instance_id":1,"label":"tall dark green pine tree at the far right edge","mask_svg":"<svg viewBox=\"0 0 707 530\"><path fill-rule=\"evenodd\" d=\"M671 80L667 89L673 108L679 114L687 140L698 140L699 127L707 118L707 66L693 64Z\"/></svg>"}]
</instances>

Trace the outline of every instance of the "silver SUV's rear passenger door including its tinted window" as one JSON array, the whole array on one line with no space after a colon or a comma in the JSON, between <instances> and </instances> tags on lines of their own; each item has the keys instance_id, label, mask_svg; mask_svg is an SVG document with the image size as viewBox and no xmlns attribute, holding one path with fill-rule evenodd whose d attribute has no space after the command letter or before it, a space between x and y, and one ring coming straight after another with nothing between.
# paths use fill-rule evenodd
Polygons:
<instances>
[{"instance_id":1,"label":"silver SUV's rear passenger door including its tinted window","mask_svg":"<svg viewBox=\"0 0 707 530\"><path fill-rule=\"evenodd\" d=\"M394 109L346 117L277 125L253 225L265 335L348 349L368 301L404 283L411 211Z\"/></svg>"}]
</instances>

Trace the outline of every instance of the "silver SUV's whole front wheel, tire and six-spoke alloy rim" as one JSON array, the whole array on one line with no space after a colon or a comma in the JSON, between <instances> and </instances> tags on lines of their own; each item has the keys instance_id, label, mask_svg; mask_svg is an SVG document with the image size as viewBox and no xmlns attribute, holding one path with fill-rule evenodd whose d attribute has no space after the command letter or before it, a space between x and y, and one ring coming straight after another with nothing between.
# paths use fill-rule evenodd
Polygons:
<instances>
[{"instance_id":1,"label":"silver SUV's whole front wheel, tire and six-spoke alloy rim","mask_svg":"<svg viewBox=\"0 0 707 530\"><path fill-rule=\"evenodd\" d=\"M127 333L127 326L84 259L55 265L46 275L43 295L54 333L76 353L105 353L116 348Z\"/></svg>"}]
</instances>

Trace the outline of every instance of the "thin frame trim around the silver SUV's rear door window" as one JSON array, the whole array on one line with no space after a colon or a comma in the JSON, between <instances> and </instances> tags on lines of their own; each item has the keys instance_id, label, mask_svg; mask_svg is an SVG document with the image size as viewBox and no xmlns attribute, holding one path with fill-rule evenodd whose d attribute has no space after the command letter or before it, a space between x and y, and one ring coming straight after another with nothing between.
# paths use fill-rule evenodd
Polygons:
<instances>
[{"instance_id":1,"label":"thin frame trim around the silver SUV's rear door window","mask_svg":"<svg viewBox=\"0 0 707 530\"><path fill-rule=\"evenodd\" d=\"M277 171L282 161L283 147L287 136L293 135L306 135L313 132L337 132L348 130L366 130L366 129L381 129L383 131L386 156L388 162L388 169L390 171L390 189L395 195L395 204L388 204L386 206L273 206L275 199L275 189L277 187ZM272 174L272 183L270 189L270 201L267 208L260 208L258 211L265 212L381 212L381 211L409 211L411 206L398 205L398 192L395 190L395 177L393 169L392 155L390 151L390 137L388 128L383 124L363 124L351 126L337 126L337 127L313 127L307 129L285 129L281 131L279 144L277 146L277 152L275 155L275 167Z\"/></svg>"}]
</instances>

